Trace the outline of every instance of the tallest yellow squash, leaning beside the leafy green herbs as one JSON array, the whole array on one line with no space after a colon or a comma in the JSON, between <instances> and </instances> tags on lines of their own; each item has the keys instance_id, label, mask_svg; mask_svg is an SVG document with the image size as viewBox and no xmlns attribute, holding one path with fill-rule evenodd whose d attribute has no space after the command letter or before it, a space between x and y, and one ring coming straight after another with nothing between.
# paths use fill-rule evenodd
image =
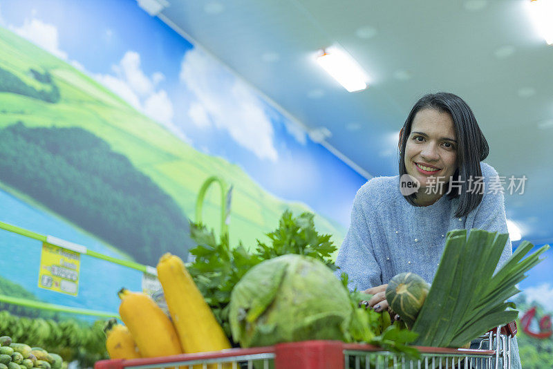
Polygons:
<instances>
[{"instance_id":1,"label":"tallest yellow squash, leaning beside the leafy green herbs","mask_svg":"<svg viewBox=\"0 0 553 369\"><path fill-rule=\"evenodd\" d=\"M230 348L223 328L178 256L163 255L158 278L185 353Z\"/></svg>"}]
</instances>

